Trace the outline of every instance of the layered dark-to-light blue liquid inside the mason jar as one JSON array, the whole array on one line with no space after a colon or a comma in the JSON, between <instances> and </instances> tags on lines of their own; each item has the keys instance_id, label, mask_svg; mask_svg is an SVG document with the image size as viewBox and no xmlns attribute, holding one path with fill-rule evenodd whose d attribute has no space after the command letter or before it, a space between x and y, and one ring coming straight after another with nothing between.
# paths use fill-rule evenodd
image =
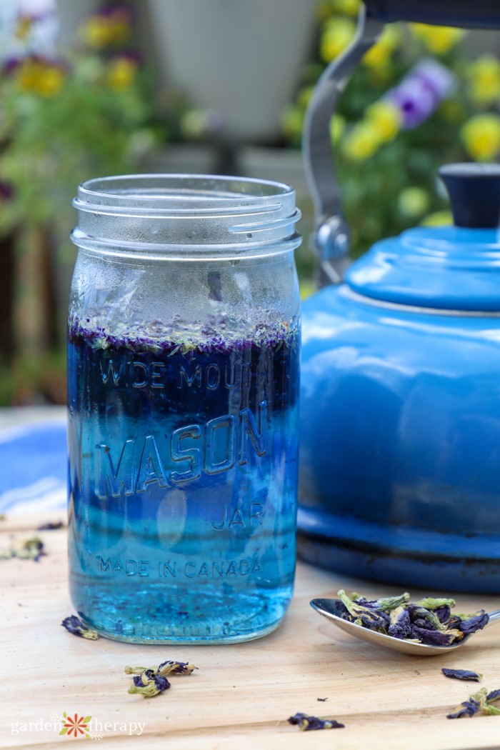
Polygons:
<instances>
[{"instance_id":1,"label":"layered dark-to-light blue liquid inside the mason jar","mask_svg":"<svg viewBox=\"0 0 500 750\"><path fill-rule=\"evenodd\" d=\"M106 637L229 643L292 597L298 326L202 341L70 321L70 593Z\"/></svg>"}]
</instances>

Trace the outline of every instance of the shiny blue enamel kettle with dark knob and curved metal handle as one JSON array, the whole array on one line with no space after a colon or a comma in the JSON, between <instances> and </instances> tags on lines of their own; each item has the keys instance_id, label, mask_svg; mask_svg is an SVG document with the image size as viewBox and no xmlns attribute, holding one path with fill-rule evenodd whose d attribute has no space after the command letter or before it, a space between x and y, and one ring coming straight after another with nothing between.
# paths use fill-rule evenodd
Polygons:
<instances>
[{"instance_id":1,"label":"shiny blue enamel kettle with dark knob and curved metal handle","mask_svg":"<svg viewBox=\"0 0 500 750\"><path fill-rule=\"evenodd\" d=\"M409 229L349 266L325 133L386 20L493 27L500 6L365 5L304 133L323 288L303 308L298 550L345 574L499 593L500 165L443 167L454 226Z\"/></svg>"}]
</instances>

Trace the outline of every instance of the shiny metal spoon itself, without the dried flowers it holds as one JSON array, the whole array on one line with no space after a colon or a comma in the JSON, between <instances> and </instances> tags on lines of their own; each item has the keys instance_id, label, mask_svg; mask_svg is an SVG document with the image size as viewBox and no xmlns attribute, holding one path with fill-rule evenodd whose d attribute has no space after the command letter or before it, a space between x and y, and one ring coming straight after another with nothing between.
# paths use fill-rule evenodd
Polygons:
<instances>
[{"instance_id":1,"label":"shiny metal spoon itself, without the dried flowers it holds","mask_svg":"<svg viewBox=\"0 0 500 750\"><path fill-rule=\"evenodd\" d=\"M430 646L428 643L412 643L411 640L403 640L401 638L395 638L392 635L385 635L384 633L378 633L374 630L362 627L362 625L356 625L355 622L349 622L348 619L343 619L339 604L342 602L339 599L313 599L310 602L311 607L316 610L319 614L334 622L337 628L354 635L361 640L366 640L367 643L374 643L376 646L383 646L385 649L391 649L392 651L399 651L403 654L411 654L413 656L436 656L443 654L448 651L454 651L460 649L469 640L470 635L466 635L463 640L458 643L452 643L451 646ZM500 609L490 612L490 622L496 619L500 619ZM474 633L472 633L474 635Z\"/></svg>"}]
</instances>

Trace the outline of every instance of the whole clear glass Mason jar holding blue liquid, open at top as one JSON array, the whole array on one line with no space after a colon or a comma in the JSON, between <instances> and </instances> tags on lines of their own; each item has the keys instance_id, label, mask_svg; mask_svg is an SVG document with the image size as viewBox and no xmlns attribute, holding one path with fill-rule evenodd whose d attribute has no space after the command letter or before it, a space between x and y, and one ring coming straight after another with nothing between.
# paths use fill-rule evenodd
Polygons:
<instances>
[{"instance_id":1,"label":"whole clear glass Mason jar holding blue liquid, open at top","mask_svg":"<svg viewBox=\"0 0 500 750\"><path fill-rule=\"evenodd\" d=\"M133 175L74 205L73 604L116 640L262 636L295 573L295 192Z\"/></svg>"}]
</instances>

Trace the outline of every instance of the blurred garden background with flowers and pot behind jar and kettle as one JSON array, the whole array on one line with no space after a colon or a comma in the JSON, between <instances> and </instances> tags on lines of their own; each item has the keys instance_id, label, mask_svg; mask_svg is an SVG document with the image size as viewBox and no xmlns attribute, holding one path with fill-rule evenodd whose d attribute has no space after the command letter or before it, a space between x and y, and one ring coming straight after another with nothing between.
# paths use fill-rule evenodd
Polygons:
<instances>
[{"instance_id":1,"label":"blurred garden background with flowers and pot behind jar and kettle","mask_svg":"<svg viewBox=\"0 0 500 750\"><path fill-rule=\"evenodd\" d=\"M219 172L293 184L313 290L301 130L358 0L1 0L0 406L64 404L71 199L85 179ZM386 26L331 121L353 256L449 223L436 171L500 155L500 40Z\"/></svg>"}]
</instances>

